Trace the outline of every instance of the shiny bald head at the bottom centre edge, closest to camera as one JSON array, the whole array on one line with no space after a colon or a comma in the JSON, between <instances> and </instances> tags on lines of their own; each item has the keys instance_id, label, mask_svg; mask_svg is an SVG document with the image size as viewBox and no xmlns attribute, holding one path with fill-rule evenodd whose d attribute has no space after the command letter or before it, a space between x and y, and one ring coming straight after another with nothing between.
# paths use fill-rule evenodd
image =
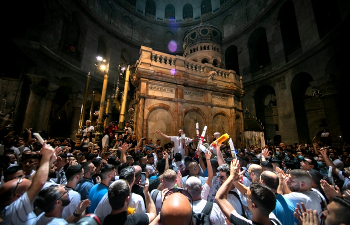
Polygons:
<instances>
[{"instance_id":1,"label":"shiny bald head at the bottom centre edge, closest to camera","mask_svg":"<svg viewBox=\"0 0 350 225\"><path fill-rule=\"evenodd\" d=\"M187 197L181 193L170 194L160 210L162 225L189 224L192 219L192 208Z\"/></svg>"}]
</instances>

